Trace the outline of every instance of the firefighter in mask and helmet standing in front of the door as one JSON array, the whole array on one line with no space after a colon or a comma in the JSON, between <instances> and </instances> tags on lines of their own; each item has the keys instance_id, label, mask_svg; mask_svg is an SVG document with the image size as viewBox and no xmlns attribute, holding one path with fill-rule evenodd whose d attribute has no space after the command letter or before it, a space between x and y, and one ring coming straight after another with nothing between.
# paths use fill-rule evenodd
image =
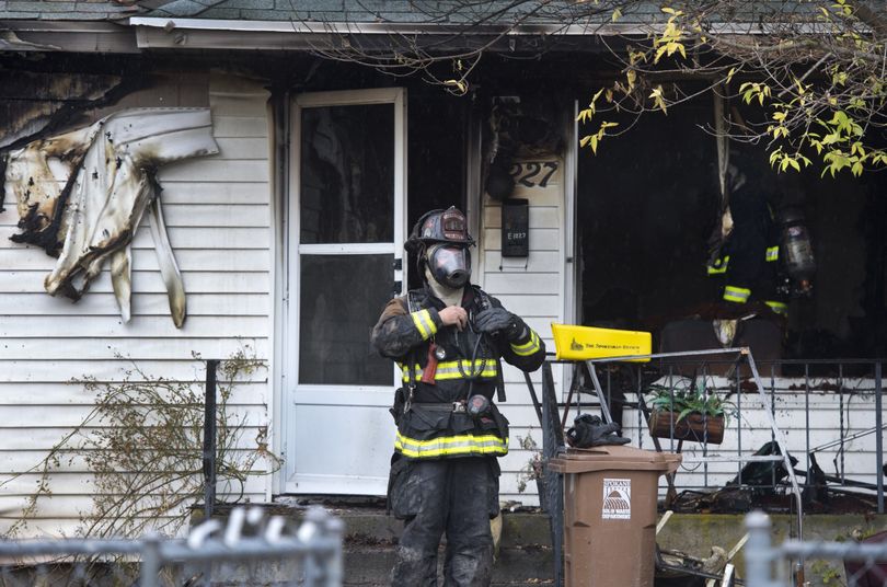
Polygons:
<instances>
[{"instance_id":1,"label":"firefighter in mask and helmet standing in front of the door","mask_svg":"<svg viewBox=\"0 0 887 587\"><path fill-rule=\"evenodd\" d=\"M445 585L489 585L496 458L508 452L508 421L493 402L503 399L499 359L534 371L545 357L535 332L469 281L472 244L454 207L419 218L404 249L424 287L391 300L372 329L373 346L403 372L391 410L389 507L404 520L394 587L437 585L444 534Z\"/></svg>"}]
</instances>

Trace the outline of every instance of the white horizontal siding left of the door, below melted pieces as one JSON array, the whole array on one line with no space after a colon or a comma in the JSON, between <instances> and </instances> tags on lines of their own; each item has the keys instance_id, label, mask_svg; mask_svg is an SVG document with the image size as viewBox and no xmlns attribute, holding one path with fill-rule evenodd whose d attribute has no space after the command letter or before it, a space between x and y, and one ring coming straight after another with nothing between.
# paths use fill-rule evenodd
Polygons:
<instances>
[{"instance_id":1,"label":"white horizontal siding left of the door, below melted pieces","mask_svg":"<svg viewBox=\"0 0 887 587\"><path fill-rule=\"evenodd\" d=\"M260 357L269 358L267 94L258 84L222 76L211 76L205 88L221 152L159 173L170 239L187 292L189 315L183 329L176 330L169 319L147 221L134 239L133 321L124 325L110 303L107 271L78 303L48 297L43 277L55 260L38 248L9 242L16 231L15 207L8 202L0 214L0 476L35 464L92 406L81 387L68 383L70 378L122 379L129 364L116 354L138 361L149 373L186 380L204 377L192 352L226 358L249 343ZM181 103L180 92L166 100L165 94L146 92L137 105L205 105L207 90L203 96L194 90L187 88L188 95L196 96L194 103ZM134 101L120 107L136 105ZM262 372L235 388L232 405L246 417L245 442L270 422L268 381ZM4 487L0 532L35 482L36 476L26 475ZM91 505L91 480L82 462L65 464L53 483L55 496L41 502L39 519L28 529L34 534L72 533L78 513ZM269 479L252 479L243 497L265 500L268 487Z\"/></svg>"}]
</instances>

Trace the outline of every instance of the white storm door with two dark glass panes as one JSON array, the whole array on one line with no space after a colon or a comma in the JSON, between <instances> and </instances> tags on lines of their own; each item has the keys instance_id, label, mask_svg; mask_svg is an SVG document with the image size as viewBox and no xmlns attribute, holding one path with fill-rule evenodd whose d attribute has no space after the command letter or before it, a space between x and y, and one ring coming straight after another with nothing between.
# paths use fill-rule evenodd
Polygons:
<instances>
[{"instance_id":1,"label":"white storm door with two dark glass panes","mask_svg":"<svg viewBox=\"0 0 887 587\"><path fill-rule=\"evenodd\" d=\"M402 290L401 89L295 101L283 417L286 493L383 495L394 442L391 360L369 344Z\"/></svg>"}]
</instances>

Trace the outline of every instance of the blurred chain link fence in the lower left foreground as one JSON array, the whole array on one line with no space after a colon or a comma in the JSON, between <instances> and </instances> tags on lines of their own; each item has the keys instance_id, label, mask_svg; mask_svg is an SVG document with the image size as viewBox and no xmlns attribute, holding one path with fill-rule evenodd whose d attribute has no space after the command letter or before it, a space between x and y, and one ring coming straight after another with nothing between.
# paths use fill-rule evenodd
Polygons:
<instances>
[{"instance_id":1,"label":"blurred chain link fence in the lower left foreground","mask_svg":"<svg viewBox=\"0 0 887 587\"><path fill-rule=\"evenodd\" d=\"M339 587L342 537L322 508L291 525L255 507L185 539L0 541L0 587Z\"/></svg>"}]
</instances>

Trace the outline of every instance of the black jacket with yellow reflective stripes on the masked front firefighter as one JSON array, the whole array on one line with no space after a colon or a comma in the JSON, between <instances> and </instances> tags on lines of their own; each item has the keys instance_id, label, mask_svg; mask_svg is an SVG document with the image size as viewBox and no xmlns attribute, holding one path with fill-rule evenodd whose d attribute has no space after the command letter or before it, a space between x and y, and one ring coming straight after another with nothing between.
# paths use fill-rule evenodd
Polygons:
<instances>
[{"instance_id":1,"label":"black jacket with yellow reflective stripes on the masked front firefighter","mask_svg":"<svg viewBox=\"0 0 887 587\"><path fill-rule=\"evenodd\" d=\"M442 325L438 313L446 308L442 301L427 289L415 289L392 299L372 329L373 346L398 361L403 373L393 410L398 421L394 448L404 457L506 454L508 421L492 404L496 385L502 384L499 359L534 371L545 358L545 345L530 327L514 342L499 333L483 335L473 329L479 312L502 308L496 298L466 286L462 307L469 313L469 325L459 332ZM437 362L434 377L429 361ZM491 408L472 417L460 402L476 394L491 400Z\"/></svg>"}]
</instances>

